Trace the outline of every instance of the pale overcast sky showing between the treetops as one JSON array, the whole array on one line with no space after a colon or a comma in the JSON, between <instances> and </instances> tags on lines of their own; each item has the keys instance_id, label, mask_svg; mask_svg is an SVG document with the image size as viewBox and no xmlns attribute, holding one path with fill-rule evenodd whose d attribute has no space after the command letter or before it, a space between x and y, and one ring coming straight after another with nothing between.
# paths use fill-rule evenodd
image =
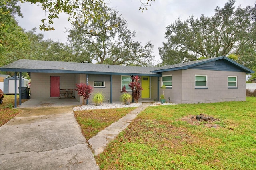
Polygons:
<instances>
[{"instance_id":1,"label":"pale overcast sky showing between the treetops","mask_svg":"<svg viewBox=\"0 0 256 170\"><path fill-rule=\"evenodd\" d=\"M155 0L148 10L143 13L138 10L141 3L139 0L110 0L105 1L111 8L119 11L122 17L127 20L128 28L136 32L135 40L146 45L151 41L154 45L154 55L156 62L160 61L158 48L165 42L164 34L166 27L174 23L178 18L182 21L189 16L200 17L213 16L216 6L222 8L227 0ZM254 6L255 0L236 0L235 6L242 8L250 5ZM24 18L17 17L19 25L26 31L32 28L39 28L41 20L45 17L44 11L35 4L21 4L21 11ZM66 42L67 33L65 28L71 28L66 14L60 14L59 19L54 20L54 31L44 32L38 29L37 33L44 34L44 39ZM156 63L155 62L155 63Z\"/></svg>"}]
</instances>

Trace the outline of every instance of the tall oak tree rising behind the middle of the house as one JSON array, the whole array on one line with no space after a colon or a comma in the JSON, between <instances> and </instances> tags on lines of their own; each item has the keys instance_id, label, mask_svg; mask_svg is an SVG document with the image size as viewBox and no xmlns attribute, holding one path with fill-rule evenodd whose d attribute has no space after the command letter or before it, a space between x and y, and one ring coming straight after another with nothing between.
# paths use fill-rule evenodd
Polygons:
<instances>
[{"instance_id":1,"label":"tall oak tree rising behind the middle of the house","mask_svg":"<svg viewBox=\"0 0 256 170\"><path fill-rule=\"evenodd\" d=\"M134 41L135 32L128 29L126 20L117 11L108 7L102 7L102 11L101 18L92 18L87 24L80 20L68 30L70 42L80 56L86 56L90 63L95 60L100 64L152 65L153 45L148 42L143 46Z\"/></svg>"}]
</instances>

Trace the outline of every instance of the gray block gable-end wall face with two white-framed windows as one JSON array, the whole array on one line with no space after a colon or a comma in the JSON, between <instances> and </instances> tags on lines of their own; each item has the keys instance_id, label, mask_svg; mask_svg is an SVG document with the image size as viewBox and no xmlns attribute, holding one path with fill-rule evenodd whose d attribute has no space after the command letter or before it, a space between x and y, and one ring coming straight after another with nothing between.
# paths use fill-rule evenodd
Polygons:
<instances>
[{"instance_id":1,"label":"gray block gable-end wall face with two white-framed windows","mask_svg":"<svg viewBox=\"0 0 256 170\"><path fill-rule=\"evenodd\" d=\"M208 88L195 88L195 75L208 75ZM228 88L228 76L237 76L237 88ZM182 70L182 103L245 101L244 72Z\"/></svg>"}]
</instances>

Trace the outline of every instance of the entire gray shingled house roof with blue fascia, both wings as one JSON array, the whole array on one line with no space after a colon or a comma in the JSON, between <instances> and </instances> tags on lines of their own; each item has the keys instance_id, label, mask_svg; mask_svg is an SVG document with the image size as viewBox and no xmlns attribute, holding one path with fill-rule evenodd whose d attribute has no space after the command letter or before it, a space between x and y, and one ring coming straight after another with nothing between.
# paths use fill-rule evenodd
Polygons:
<instances>
[{"instance_id":1,"label":"entire gray shingled house roof with blue fascia, both wings","mask_svg":"<svg viewBox=\"0 0 256 170\"><path fill-rule=\"evenodd\" d=\"M39 61L20 59L8 65L1 67L1 71L16 72L36 72L36 73L86 73L86 74L104 74L104 75L139 75L160 77L162 72L183 70L198 65L203 65L212 61L225 60L238 69L246 73L254 73L251 69L236 63L225 56L214 57L190 61L186 63L168 65L164 67L138 67L124 65L106 65L106 64L89 64L89 63L72 63L62 61Z\"/></svg>"}]
</instances>

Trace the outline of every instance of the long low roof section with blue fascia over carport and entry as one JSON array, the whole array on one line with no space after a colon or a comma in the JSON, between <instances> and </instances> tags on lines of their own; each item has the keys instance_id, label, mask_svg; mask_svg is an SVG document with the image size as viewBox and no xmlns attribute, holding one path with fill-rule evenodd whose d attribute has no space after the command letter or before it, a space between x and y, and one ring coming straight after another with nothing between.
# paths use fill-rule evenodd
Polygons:
<instances>
[{"instance_id":1,"label":"long low roof section with blue fascia over carport and entry","mask_svg":"<svg viewBox=\"0 0 256 170\"><path fill-rule=\"evenodd\" d=\"M86 73L105 75L140 75L161 76L152 73L150 67L106 65L90 63L72 63L62 61L39 61L20 59L1 67L1 71L36 72L36 73Z\"/></svg>"}]
</instances>

